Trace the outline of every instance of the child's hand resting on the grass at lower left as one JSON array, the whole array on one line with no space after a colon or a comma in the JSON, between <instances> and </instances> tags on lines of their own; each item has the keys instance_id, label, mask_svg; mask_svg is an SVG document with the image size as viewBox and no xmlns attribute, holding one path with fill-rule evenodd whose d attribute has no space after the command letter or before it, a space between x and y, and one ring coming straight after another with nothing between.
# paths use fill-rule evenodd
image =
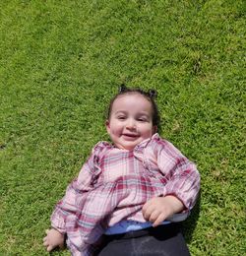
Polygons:
<instances>
[{"instance_id":1,"label":"child's hand resting on the grass at lower left","mask_svg":"<svg viewBox=\"0 0 246 256\"><path fill-rule=\"evenodd\" d=\"M56 247L63 248L64 246L64 234L60 233L54 228L46 230L46 236L43 238L43 245L46 247L47 251L50 252Z\"/></svg>"}]
</instances>

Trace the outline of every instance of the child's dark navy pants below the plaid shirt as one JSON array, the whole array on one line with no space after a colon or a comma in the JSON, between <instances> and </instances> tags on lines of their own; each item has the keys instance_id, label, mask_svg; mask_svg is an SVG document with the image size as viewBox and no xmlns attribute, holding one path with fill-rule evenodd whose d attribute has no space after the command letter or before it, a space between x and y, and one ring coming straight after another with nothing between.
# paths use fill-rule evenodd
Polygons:
<instances>
[{"instance_id":1,"label":"child's dark navy pants below the plaid shirt","mask_svg":"<svg viewBox=\"0 0 246 256\"><path fill-rule=\"evenodd\" d=\"M124 234L104 235L98 256L189 256L179 224L163 224Z\"/></svg>"}]
</instances>

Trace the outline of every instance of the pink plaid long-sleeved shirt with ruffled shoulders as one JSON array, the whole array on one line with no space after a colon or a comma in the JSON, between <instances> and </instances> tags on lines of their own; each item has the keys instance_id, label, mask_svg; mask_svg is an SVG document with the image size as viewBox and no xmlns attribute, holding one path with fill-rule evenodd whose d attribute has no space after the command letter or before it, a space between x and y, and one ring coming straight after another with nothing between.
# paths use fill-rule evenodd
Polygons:
<instances>
[{"instance_id":1,"label":"pink plaid long-sleeved shirt with ruffled shoulders","mask_svg":"<svg viewBox=\"0 0 246 256\"><path fill-rule=\"evenodd\" d=\"M145 223L142 207L151 198L174 195L189 211L199 189L196 165L158 134L133 151L99 142L57 204L51 224L67 233L73 255L92 255L108 226L123 220Z\"/></svg>"}]
</instances>

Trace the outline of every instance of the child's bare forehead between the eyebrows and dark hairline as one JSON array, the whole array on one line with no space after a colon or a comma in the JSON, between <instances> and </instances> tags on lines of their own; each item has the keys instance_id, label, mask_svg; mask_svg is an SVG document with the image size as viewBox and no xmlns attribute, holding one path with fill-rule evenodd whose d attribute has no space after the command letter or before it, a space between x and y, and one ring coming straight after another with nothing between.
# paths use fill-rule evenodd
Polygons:
<instances>
[{"instance_id":1,"label":"child's bare forehead between the eyebrows and dark hairline","mask_svg":"<svg viewBox=\"0 0 246 256\"><path fill-rule=\"evenodd\" d=\"M122 96L117 96L112 104L112 111L119 110L142 110L142 111L152 111L152 103L145 96L137 93L126 94Z\"/></svg>"}]
</instances>

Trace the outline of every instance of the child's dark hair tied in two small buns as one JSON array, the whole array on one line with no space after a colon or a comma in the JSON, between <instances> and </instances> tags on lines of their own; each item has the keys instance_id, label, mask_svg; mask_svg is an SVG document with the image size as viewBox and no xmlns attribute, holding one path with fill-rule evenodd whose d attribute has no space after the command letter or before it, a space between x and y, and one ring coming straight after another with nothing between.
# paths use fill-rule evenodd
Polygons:
<instances>
[{"instance_id":1,"label":"child's dark hair tied in two small buns","mask_svg":"<svg viewBox=\"0 0 246 256\"><path fill-rule=\"evenodd\" d=\"M159 122L160 122L159 113L158 113L157 105L154 101L154 98L157 96L157 93L155 90L150 90L149 92L145 92L139 88L127 88L125 85L121 85L119 88L118 94L112 97L110 100L109 107L107 109L107 119L110 118L114 100L118 96L131 95L131 94L140 94L141 96L144 96L146 99L148 99L151 102L153 107L153 125L156 125L159 128Z\"/></svg>"}]
</instances>

